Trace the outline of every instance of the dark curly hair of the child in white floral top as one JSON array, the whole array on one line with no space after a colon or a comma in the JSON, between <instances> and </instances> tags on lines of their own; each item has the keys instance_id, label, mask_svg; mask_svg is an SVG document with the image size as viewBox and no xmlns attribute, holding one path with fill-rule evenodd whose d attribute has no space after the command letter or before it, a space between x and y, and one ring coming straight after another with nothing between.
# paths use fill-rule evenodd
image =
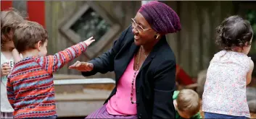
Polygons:
<instances>
[{"instance_id":1,"label":"dark curly hair of the child in white floral top","mask_svg":"<svg viewBox=\"0 0 256 119\"><path fill-rule=\"evenodd\" d=\"M239 16L231 16L221 22L217 33L216 44L220 45L223 50L251 45L252 27L247 20Z\"/></svg>"}]
</instances>

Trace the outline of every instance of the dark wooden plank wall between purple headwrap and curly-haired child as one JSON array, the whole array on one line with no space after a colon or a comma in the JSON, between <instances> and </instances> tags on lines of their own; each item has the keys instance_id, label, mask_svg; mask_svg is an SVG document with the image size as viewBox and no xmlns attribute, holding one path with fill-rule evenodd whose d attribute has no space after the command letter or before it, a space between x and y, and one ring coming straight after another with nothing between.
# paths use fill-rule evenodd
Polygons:
<instances>
[{"instance_id":1,"label":"dark wooden plank wall between purple headwrap and curly-haired child","mask_svg":"<svg viewBox=\"0 0 256 119\"><path fill-rule=\"evenodd\" d=\"M181 19L182 30L168 35L177 63L190 75L207 69L214 53L215 28L234 14L232 1L165 1Z\"/></svg>"}]
</instances>

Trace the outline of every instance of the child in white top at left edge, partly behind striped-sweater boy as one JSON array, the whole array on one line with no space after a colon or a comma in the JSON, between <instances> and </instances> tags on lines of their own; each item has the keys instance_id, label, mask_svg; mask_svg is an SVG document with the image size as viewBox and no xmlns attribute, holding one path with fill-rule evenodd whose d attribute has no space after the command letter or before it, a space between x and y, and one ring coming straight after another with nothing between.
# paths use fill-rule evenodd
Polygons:
<instances>
[{"instance_id":1,"label":"child in white top at left edge, partly behind striped-sweater boy","mask_svg":"<svg viewBox=\"0 0 256 119\"><path fill-rule=\"evenodd\" d=\"M12 118L12 106L7 99L7 76L15 62L21 60L20 54L15 49L12 35L15 27L24 20L15 9L1 11L1 117Z\"/></svg>"}]
</instances>

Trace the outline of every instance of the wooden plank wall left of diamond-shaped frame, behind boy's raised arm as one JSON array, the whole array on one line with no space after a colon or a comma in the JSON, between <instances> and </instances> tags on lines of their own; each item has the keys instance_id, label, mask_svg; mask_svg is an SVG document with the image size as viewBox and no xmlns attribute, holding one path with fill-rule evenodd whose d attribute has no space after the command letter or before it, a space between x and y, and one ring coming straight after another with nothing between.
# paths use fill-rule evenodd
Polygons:
<instances>
[{"instance_id":1,"label":"wooden plank wall left of diamond-shaped frame, behind boy's raised arm","mask_svg":"<svg viewBox=\"0 0 256 119\"><path fill-rule=\"evenodd\" d=\"M59 32L59 26L66 17L75 13L79 6L83 5L84 1L46 1L46 30L49 33L48 53L54 54L58 51L70 47L73 43ZM75 60L86 60L83 56ZM57 71L59 74L73 74L72 70L67 67L70 63L65 65L62 69Z\"/></svg>"}]
</instances>

